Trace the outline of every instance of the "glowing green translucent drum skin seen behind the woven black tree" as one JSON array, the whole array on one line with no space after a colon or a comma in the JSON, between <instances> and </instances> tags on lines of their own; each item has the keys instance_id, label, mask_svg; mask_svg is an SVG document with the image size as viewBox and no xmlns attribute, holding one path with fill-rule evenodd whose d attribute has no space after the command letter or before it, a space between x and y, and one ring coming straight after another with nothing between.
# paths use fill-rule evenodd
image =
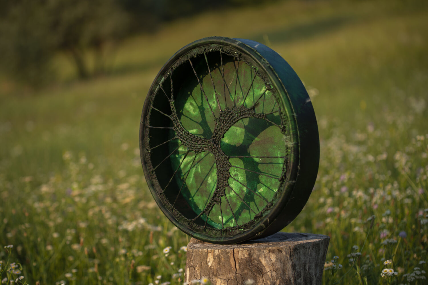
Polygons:
<instances>
[{"instance_id":1,"label":"glowing green translucent drum skin seen behind the woven black tree","mask_svg":"<svg viewBox=\"0 0 428 285\"><path fill-rule=\"evenodd\" d=\"M267 114L266 119L242 118L233 122L220 140L220 148L232 165L229 186L220 203L200 217L208 226L225 229L249 223L273 200L285 170L287 138L281 127L280 105L255 68L243 61L222 66L207 62L208 59L195 63L198 78L190 76L186 87L175 92L174 105L184 129L210 139L216 118L226 108L254 107L256 113ZM169 138L175 136L172 129ZM215 158L209 151L189 151L179 139L169 142L171 153L177 148L169 159L172 169L178 170L175 182L199 214L206 209L217 185Z\"/></svg>"}]
</instances>

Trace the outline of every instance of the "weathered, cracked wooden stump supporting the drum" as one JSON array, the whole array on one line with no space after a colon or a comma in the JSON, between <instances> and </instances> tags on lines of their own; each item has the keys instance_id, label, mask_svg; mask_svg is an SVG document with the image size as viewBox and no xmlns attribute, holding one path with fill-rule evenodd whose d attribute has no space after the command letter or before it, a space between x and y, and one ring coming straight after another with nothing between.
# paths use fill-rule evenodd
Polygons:
<instances>
[{"instance_id":1,"label":"weathered, cracked wooden stump supporting the drum","mask_svg":"<svg viewBox=\"0 0 428 285\"><path fill-rule=\"evenodd\" d=\"M192 238L187 245L186 282L206 277L212 285L318 285L329 241L326 235L285 232L244 244Z\"/></svg>"}]
</instances>

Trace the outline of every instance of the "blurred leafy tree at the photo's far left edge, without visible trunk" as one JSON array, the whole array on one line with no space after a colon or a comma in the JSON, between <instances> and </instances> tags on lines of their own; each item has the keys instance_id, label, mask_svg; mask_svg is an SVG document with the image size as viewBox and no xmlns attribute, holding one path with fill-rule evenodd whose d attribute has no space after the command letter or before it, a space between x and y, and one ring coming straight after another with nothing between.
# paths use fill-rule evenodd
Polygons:
<instances>
[{"instance_id":1,"label":"blurred leafy tree at the photo's far left edge, without visible trunk","mask_svg":"<svg viewBox=\"0 0 428 285\"><path fill-rule=\"evenodd\" d=\"M18 80L42 85L53 52L50 25L36 1L19 2L0 1L0 68Z\"/></svg>"}]
</instances>

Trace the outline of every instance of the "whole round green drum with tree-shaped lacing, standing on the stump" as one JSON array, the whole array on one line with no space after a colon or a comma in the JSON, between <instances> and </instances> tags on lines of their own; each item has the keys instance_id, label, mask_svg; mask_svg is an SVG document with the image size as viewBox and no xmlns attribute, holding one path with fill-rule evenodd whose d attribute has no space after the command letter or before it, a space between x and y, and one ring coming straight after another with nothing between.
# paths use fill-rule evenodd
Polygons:
<instances>
[{"instance_id":1,"label":"whole round green drum with tree-shaped lacing, standing on the stump","mask_svg":"<svg viewBox=\"0 0 428 285\"><path fill-rule=\"evenodd\" d=\"M292 68L255 41L211 37L172 56L140 123L146 181L187 234L231 244L303 209L319 163L312 103Z\"/></svg>"}]
</instances>

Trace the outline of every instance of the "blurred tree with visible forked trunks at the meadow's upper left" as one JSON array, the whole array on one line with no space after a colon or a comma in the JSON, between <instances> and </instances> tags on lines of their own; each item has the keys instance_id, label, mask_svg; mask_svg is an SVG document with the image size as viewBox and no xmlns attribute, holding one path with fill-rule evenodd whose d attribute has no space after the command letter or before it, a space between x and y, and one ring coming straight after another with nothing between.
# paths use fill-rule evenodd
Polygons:
<instances>
[{"instance_id":1,"label":"blurred tree with visible forked trunks at the meadow's upper left","mask_svg":"<svg viewBox=\"0 0 428 285\"><path fill-rule=\"evenodd\" d=\"M56 48L67 51L80 78L89 76L85 60L88 48L94 51L94 73L104 73L105 51L125 36L128 19L113 0L50 1L50 34Z\"/></svg>"}]
</instances>

